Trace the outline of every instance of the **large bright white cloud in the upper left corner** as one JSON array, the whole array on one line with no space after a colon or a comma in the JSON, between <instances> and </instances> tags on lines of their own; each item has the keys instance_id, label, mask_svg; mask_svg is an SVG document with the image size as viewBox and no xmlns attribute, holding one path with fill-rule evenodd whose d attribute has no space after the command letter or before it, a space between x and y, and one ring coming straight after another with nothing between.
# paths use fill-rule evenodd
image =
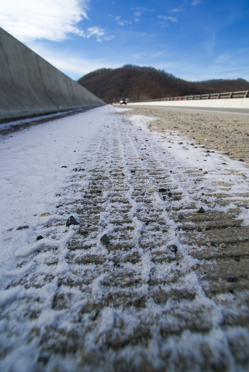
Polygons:
<instances>
[{"instance_id":1,"label":"large bright white cloud in the upper left corner","mask_svg":"<svg viewBox=\"0 0 249 372\"><path fill-rule=\"evenodd\" d=\"M0 26L25 42L62 41L80 35L78 23L87 18L88 0L7 0L0 2Z\"/></svg>"}]
</instances>

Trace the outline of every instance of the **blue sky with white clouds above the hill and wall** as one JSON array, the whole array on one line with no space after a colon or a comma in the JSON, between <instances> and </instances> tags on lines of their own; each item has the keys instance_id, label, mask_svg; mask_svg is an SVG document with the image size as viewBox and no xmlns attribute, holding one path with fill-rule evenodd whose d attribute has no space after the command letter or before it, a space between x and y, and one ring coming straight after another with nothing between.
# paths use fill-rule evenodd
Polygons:
<instances>
[{"instance_id":1,"label":"blue sky with white clouds above the hill and wall","mask_svg":"<svg viewBox=\"0 0 249 372\"><path fill-rule=\"evenodd\" d=\"M8 0L0 26L75 80L124 64L249 80L248 14L248 0Z\"/></svg>"}]
</instances>

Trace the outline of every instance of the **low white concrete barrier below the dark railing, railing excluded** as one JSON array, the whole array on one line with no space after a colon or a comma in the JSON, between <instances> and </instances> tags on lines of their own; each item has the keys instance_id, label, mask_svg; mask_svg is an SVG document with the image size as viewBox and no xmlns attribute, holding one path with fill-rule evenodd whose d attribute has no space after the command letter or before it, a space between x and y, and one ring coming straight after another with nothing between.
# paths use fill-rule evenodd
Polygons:
<instances>
[{"instance_id":1,"label":"low white concrete barrier below the dark railing, railing excluded","mask_svg":"<svg viewBox=\"0 0 249 372\"><path fill-rule=\"evenodd\" d=\"M130 102L127 105L136 106L177 106L177 107L209 107L209 108L231 108L249 109L249 98L221 98L221 99L192 99L182 101L150 101Z\"/></svg>"}]
</instances>

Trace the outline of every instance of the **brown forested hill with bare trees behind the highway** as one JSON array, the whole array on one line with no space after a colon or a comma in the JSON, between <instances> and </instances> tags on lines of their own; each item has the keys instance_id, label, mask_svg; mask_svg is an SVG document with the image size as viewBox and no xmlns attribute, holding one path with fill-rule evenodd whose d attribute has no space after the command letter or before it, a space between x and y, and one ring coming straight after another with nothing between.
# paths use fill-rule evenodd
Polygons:
<instances>
[{"instance_id":1,"label":"brown forested hill with bare trees behind the highway","mask_svg":"<svg viewBox=\"0 0 249 372\"><path fill-rule=\"evenodd\" d=\"M78 80L90 92L107 103L121 98L133 101L249 90L249 82L237 80L207 80L191 82L176 78L153 67L125 65L120 68L101 68Z\"/></svg>"}]
</instances>

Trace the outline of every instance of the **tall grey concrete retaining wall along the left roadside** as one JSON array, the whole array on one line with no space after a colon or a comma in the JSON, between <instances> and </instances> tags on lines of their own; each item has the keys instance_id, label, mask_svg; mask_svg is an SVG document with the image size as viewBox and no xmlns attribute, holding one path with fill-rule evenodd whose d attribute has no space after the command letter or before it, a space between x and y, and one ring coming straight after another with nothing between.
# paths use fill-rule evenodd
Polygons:
<instances>
[{"instance_id":1,"label":"tall grey concrete retaining wall along the left roadside","mask_svg":"<svg viewBox=\"0 0 249 372\"><path fill-rule=\"evenodd\" d=\"M105 105L0 28L0 120Z\"/></svg>"}]
</instances>

